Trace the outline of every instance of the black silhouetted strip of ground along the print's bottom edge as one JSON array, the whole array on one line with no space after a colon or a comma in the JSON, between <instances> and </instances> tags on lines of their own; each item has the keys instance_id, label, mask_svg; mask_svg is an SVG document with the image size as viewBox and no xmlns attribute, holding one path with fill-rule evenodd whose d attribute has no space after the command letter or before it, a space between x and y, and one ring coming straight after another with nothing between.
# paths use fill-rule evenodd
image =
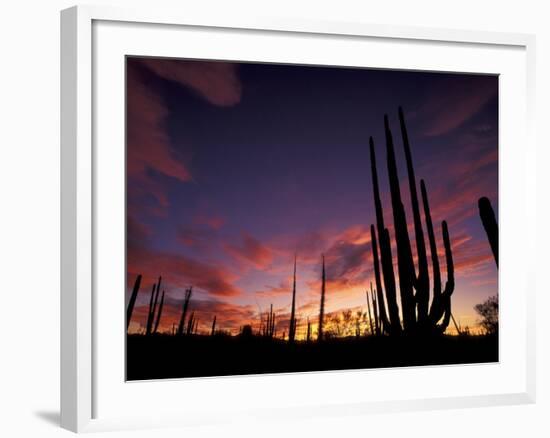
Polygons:
<instances>
[{"instance_id":1,"label":"black silhouetted strip of ground along the print's bottom edge","mask_svg":"<svg viewBox=\"0 0 550 438\"><path fill-rule=\"evenodd\" d=\"M127 380L496 361L496 336L366 337L294 345L260 337L127 337Z\"/></svg>"}]
</instances>

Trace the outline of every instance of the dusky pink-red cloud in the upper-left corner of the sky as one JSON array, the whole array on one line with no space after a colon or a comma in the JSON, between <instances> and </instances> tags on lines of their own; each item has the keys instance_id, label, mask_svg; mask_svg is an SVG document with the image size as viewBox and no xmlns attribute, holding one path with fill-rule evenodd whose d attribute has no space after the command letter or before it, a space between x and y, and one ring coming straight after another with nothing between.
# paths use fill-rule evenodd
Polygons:
<instances>
[{"instance_id":1,"label":"dusky pink-red cloud in the upper-left corner of the sky","mask_svg":"<svg viewBox=\"0 0 550 438\"><path fill-rule=\"evenodd\" d=\"M236 66L228 63L131 58L127 64L127 178L129 209L135 199L151 196L157 206L148 213L165 214L166 190L150 170L192 181L189 163L176 157L167 131L170 116L161 95L150 84L151 74L175 81L197 92L213 105L231 106L241 99L242 86ZM141 207L142 208L142 207Z\"/></svg>"}]
</instances>

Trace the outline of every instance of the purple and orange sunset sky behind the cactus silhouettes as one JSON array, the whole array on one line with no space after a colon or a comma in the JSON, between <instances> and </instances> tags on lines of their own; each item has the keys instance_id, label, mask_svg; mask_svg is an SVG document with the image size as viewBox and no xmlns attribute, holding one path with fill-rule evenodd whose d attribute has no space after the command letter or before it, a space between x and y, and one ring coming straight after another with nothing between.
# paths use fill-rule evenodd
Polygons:
<instances>
[{"instance_id":1,"label":"purple and orange sunset sky behind the cactus silhouettes","mask_svg":"<svg viewBox=\"0 0 550 438\"><path fill-rule=\"evenodd\" d=\"M366 310L375 223L368 139L392 233L383 117L408 203L399 105L440 251L441 221L449 224L453 315L475 327L473 306L498 287L477 210L487 196L498 212L497 77L128 58L127 297L143 275L130 330L145 324L162 275L161 331L179 320L192 285L199 331L209 330L214 315L233 333L256 327L260 309L272 303L282 332L294 254L298 337L307 317L317 322L321 254L326 312Z\"/></svg>"}]
</instances>

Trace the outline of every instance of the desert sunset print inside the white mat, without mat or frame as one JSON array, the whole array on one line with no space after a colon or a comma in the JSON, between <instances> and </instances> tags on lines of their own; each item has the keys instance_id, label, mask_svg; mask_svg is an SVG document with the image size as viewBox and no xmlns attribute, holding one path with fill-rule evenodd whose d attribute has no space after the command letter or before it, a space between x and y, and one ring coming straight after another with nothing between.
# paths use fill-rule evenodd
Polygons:
<instances>
[{"instance_id":1,"label":"desert sunset print inside the white mat, without mat or frame","mask_svg":"<svg viewBox=\"0 0 550 438\"><path fill-rule=\"evenodd\" d=\"M498 99L127 57L127 380L498 361Z\"/></svg>"}]
</instances>

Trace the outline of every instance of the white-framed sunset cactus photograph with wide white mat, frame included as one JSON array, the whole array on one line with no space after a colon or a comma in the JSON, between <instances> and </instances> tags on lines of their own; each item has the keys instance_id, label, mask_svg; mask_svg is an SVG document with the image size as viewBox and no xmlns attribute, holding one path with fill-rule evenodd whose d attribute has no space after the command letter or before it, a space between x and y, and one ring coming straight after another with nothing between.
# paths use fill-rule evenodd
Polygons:
<instances>
[{"instance_id":1,"label":"white-framed sunset cactus photograph with wide white mat, frame included","mask_svg":"<svg viewBox=\"0 0 550 438\"><path fill-rule=\"evenodd\" d=\"M534 37L61 24L63 427L534 401Z\"/></svg>"}]
</instances>

